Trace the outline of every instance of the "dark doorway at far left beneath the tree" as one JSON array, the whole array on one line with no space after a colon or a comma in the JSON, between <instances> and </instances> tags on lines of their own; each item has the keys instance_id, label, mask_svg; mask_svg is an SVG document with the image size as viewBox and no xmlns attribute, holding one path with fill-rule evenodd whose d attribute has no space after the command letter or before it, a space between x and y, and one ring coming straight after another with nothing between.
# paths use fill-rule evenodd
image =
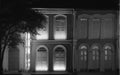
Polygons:
<instances>
[{"instance_id":1,"label":"dark doorway at far left beneath the tree","mask_svg":"<svg viewBox=\"0 0 120 75\"><path fill-rule=\"evenodd\" d=\"M8 65L9 71L19 70L19 49L17 47L9 48L8 63L9 63Z\"/></svg>"}]
</instances>

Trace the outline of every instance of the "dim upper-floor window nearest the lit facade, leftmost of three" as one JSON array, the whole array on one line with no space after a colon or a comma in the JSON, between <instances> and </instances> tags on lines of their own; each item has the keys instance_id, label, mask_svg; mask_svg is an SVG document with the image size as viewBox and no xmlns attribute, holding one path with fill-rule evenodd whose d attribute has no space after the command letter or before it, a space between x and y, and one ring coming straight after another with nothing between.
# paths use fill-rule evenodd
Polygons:
<instances>
[{"instance_id":1,"label":"dim upper-floor window nearest the lit facade, leftmost of three","mask_svg":"<svg viewBox=\"0 0 120 75\"><path fill-rule=\"evenodd\" d=\"M88 36L89 15L80 14L76 20L76 38L87 38Z\"/></svg>"}]
</instances>

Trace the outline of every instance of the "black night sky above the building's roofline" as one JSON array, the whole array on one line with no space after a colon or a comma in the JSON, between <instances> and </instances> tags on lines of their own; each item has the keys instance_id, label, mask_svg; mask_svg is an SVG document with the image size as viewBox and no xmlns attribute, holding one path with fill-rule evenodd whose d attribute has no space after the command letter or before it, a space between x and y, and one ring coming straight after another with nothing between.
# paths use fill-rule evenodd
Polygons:
<instances>
[{"instance_id":1,"label":"black night sky above the building's roofline","mask_svg":"<svg viewBox=\"0 0 120 75\"><path fill-rule=\"evenodd\" d=\"M39 8L118 9L119 0L3 0L3 7L12 3Z\"/></svg>"}]
</instances>

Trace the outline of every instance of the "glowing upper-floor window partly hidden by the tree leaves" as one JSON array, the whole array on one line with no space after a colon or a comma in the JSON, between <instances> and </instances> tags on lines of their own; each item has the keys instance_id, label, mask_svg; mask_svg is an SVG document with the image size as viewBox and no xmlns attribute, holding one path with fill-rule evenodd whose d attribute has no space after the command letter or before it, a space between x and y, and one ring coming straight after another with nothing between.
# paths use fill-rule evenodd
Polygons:
<instances>
[{"instance_id":1,"label":"glowing upper-floor window partly hidden by the tree leaves","mask_svg":"<svg viewBox=\"0 0 120 75\"><path fill-rule=\"evenodd\" d=\"M45 15L47 18L47 23L44 24L43 28L38 29L38 35L36 35L37 40L47 40L49 38L49 16Z\"/></svg>"}]
</instances>

